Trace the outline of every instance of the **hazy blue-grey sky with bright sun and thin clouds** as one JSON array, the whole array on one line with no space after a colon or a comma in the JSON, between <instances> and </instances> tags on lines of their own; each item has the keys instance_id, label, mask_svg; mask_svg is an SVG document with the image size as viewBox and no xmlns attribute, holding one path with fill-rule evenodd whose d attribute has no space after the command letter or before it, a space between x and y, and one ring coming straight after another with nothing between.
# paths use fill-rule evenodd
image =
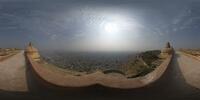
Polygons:
<instances>
[{"instance_id":1,"label":"hazy blue-grey sky with bright sun and thin clouds","mask_svg":"<svg viewBox=\"0 0 200 100\"><path fill-rule=\"evenodd\" d=\"M0 0L0 47L200 48L199 0Z\"/></svg>"}]
</instances>

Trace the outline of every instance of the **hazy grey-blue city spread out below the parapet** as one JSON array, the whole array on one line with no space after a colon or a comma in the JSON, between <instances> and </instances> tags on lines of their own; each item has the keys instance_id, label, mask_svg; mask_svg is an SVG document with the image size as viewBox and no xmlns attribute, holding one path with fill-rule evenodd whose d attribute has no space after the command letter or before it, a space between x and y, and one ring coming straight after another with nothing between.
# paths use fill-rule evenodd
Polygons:
<instances>
[{"instance_id":1,"label":"hazy grey-blue city spread out below the parapet","mask_svg":"<svg viewBox=\"0 0 200 100\"><path fill-rule=\"evenodd\" d=\"M61 68L77 71L94 71L118 69L130 59L134 59L138 52L69 52L43 51L41 55L49 63Z\"/></svg>"}]
</instances>

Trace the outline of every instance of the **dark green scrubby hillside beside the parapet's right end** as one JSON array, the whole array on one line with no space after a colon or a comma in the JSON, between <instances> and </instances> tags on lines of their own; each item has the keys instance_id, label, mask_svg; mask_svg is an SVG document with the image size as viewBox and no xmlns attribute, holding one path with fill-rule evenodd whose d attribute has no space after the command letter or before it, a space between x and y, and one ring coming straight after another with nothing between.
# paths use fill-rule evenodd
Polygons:
<instances>
[{"instance_id":1,"label":"dark green scrubby hillside beside the parapet's right end","mask_svg":"<svg viewBox=\"0 0 200 100\"><path fill-rule=\"evenodd\" d=\"M162 62L162 60L158 57L159 54L159 50L141 53L136 60L130 61L127 64L127 77L134 78L144 76L153 71Z\"/></svg>"}]
</instances>

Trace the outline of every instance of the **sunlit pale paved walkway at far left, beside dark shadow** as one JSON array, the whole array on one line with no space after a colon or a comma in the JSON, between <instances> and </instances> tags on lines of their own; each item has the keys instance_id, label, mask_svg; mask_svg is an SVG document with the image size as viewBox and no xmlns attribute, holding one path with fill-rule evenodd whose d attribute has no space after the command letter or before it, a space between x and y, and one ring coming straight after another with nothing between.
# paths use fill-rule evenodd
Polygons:
<instances>
[{"instance_id":1,"label":"sunlit pale paved walkway at far left, beside dark shadow","mask_svg":"<svg viewBox=\"0 0 200 100\"><path fill-rule=\"evenodd\" d=\"M0 89L28 91L23 51L0 62Z\"/></svg>"}]
</instances>

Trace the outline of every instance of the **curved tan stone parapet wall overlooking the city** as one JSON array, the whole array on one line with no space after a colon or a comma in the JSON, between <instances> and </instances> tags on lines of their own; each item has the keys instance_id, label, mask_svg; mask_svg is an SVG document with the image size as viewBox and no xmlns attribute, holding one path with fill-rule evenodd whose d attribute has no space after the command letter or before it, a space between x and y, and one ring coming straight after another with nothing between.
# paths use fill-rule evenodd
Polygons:
<instances>
[{"instance_id":1,"label":"curved tan stone parapet wall overlooking the city","mask_svg":"<svg viewBox=\"0 0 200 100\"><path fill-rule=\"evenodd\" d=\"M158 80L167 69L173 54L169 55L154 71L137 78L110 76L101 71L82 76L63 74L42 66L34 61L30 55L26 55L26 57L35 74L37 74L41 80L58 87L86 87L99 84L111 88L130 89L144 87Z\"/></svg>"}]
</instances>

